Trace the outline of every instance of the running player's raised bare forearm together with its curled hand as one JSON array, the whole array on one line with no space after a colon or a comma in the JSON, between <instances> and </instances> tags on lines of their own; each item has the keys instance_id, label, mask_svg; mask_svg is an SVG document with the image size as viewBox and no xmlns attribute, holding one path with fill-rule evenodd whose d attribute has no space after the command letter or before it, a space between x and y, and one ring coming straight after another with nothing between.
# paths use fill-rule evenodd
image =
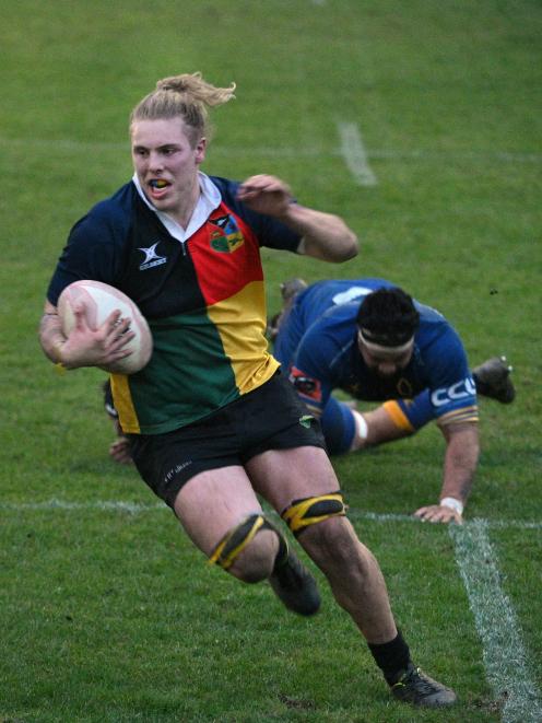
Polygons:
<instances>
[{"instance_id":1,"label":"running player's raised bare forearm together with its curled hand","mask_svg":"<svg viewBox=\"0 0 542 723\"><path fill-rule=\"evenodd\" d=\"M239 187L238 198L298 233L299 252L307 256L340 263L357 254L357 237L340 217L293 203L290 187L280 178L252 176Z\"/></svg>"}]
</instances>

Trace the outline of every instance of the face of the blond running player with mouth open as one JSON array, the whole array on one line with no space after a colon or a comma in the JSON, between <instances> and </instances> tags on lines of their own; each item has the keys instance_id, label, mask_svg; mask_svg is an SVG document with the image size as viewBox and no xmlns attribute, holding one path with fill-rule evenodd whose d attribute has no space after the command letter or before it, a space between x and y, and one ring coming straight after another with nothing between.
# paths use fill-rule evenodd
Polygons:
<instances>
[{"instance_id":1,"label":"face of the blond running player with mouth open","mask_svg":"<svg viewBox=\"0 0 542 723\"><path fill-rule=\"evenodd\" d=\"M158 211L182 219L199 193L205 139L195 145L182 119L169 118L134 121L131 142L133 167L145 196Z\"/></svg>"}]
</instances>

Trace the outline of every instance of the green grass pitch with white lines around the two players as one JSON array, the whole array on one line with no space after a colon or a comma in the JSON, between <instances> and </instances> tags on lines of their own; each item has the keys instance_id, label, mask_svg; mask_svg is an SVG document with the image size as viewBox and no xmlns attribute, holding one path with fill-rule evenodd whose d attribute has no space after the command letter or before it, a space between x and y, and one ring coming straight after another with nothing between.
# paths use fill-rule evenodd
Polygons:
<instances>
[{"instance_id":1,"label":"green grass pitch with white lines around the two players","mask_svg":"<svg viewBox=\"0 0 542 723\"><path fill-rule=\"evenodd\" d=\"M0 722L542 720L540 2L1 7ZM436 429L335 460L450 711L389 699L318 572L323 609L305 620L205 567L108 459L103 375L60 376L38 348L71 224L131 173L129 110L196 70L237 82L204 171L280 175L362 241L333 267L264 250L271 311L292 276L384 276L439 308L472 364L515 366L516 403L481 403L463 527L410 517L438 494Z\"/></svg>"}]
</instances>

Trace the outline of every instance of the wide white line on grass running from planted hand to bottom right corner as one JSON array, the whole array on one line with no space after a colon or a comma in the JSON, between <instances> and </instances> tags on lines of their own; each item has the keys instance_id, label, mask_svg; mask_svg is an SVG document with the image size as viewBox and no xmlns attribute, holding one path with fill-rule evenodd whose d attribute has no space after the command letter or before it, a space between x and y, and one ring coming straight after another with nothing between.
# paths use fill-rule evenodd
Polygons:
<instances>
[{"instance_id":1,"label":"wide white line on grass running from planted hand to bottom right corner","mask_svg":"<svg viewBox=\"0 0 542 723\"><path fill-rule=\"evenodd\" d=\"M496 699L503 703L504 723L540 723L540 693L530 676L514 608L500 587L497 557L487 537L487 527L486 521L479 520L449 528L482 640L487 680Z\"/></svg>"}]
</instances>

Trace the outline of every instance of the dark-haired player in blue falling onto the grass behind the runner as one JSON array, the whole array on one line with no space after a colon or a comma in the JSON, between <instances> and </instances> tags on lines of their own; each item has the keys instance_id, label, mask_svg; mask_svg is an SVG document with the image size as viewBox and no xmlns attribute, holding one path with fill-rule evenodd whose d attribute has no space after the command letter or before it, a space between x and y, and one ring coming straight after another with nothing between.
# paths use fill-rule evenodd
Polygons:
<instances>
[{"instance_id":1,"label":"dark-haired player in blue falling onto the grass behind the runner","mask_svg":"<svg viewBox=\"0 0 542 723\"><path fill-rule=\"evenodd\" d=\"M431 522L462 521L479 458L476 387L514 399L511 368L492 359L473 373L461 339L434 308L385 279L283 284L274 355L308 410L320 418L328 452L341 454L413 434L436 420L445 440L438 504L415 511ZM332 396L382 401L360 412Z\"/></svg>"}]
</instances>

